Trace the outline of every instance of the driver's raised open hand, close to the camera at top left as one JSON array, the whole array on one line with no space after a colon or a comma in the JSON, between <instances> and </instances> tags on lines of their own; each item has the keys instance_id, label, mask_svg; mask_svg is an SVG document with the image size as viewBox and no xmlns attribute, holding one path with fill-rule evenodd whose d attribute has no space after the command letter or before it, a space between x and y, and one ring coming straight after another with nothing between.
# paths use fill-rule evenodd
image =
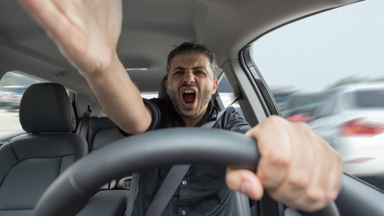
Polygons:
<instances>
[{"instance_id":1,"label":"driver's raised open hand, close to the camera at top left","mask_svg":"<svg viewBox=\"0 0 384 216\"><path fill-rule=\"evenodd\" d=\"M77 70L112 67L121 32L121 0L20 0Z\"/></svg>"}]
</instances>

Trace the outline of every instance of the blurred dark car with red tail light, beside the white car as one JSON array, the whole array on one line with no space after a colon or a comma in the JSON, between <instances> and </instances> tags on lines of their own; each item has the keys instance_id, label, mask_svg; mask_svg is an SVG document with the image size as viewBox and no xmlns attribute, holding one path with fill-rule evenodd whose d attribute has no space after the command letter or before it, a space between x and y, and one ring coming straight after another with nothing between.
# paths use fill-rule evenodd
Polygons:
<instances>
[{"instance_id":1,"label":"blurred dark car with red tail light, beside the white car","mask_svg":"<svg viewBox=\"0 0 384 216\"><path fill-rule=\"evenodd\" d=\"M281 115L295 122L308 122L314 119L314 110L320 104L321 93L296 93L286 99L279 107Z\"/></svg>"}]
</instances>

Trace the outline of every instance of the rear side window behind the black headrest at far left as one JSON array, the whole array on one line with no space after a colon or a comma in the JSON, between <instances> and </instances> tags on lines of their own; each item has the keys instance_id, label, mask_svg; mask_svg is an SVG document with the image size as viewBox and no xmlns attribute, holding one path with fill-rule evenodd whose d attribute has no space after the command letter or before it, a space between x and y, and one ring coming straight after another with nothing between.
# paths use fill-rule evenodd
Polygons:
<instances>
[{"instance_id":1,"label":"rear side window behind the black headrest at far left","mask_svg":"<svg viewBox=\"0 0 384 216\"><path fill-rule=\"evenodd\" d=\"M25 89L39 80L7 72L0 80L0 134L22 130L18 107Z\"/></svg>"}]
</instances>

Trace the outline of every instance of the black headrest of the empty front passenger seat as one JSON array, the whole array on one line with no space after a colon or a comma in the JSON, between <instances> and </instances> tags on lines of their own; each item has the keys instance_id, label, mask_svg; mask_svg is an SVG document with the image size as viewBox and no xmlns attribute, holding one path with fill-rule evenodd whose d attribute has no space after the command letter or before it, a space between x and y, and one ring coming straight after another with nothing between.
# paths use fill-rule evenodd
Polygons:
<instances>
[{"instance_id":1,"label":"black headrest of the empty front passenger seat","mask_svg":"<svg viewBox=\"0 0 384 216\"><path fill-rule=\"evenodd\" d=\"M69 96L58 83L30 85L21 97L19 119L26 132L70 132L76 128Z\"/></svg>"}]
</instances>

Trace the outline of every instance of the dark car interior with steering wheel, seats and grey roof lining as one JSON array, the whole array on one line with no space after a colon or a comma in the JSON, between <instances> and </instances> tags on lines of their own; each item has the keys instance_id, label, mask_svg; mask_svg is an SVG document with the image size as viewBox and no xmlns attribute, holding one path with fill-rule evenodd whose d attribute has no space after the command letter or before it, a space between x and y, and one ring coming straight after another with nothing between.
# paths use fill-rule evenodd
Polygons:
<instances>
[{"instance_id":1,"label":"dark car interior with steering wheel, seats and grey roof lining","mask_svg":"<svg viewBox=\"0 0 384 216\"><path fill-rule=\"evenodd\" d=\"M219 86L225 76L245 120L254 126L281 114L249 46L295 20L358 1L123 0L117 53L142 95L163 98L168 96L163 84L168 52L184 41L207 44L220 67ZM0 216L128 216L139 171L162 164L163 157L169 157L163 165L205 162L251 169L257 162L254 141L225 131L188 128L189 139L200 139L197 145L177 135L187 128L124 138L85 79L17 0L0 0L0 56L0 78L15 72L42 81L21 98L22 130L0 134ZM221 110L220 93L211 101ZM171 140L180 146L167 145ZM192 152L190 158L169 155L169 149L185 148ZM123 176L132 176L129 190L115 186ZM233 193L233 202L237 215L330 215L297 212L267 193L260 200ZM383 215L383 202L381 190L344 174L333 207L339 215Z\"/></svg>"}]
</instances>

